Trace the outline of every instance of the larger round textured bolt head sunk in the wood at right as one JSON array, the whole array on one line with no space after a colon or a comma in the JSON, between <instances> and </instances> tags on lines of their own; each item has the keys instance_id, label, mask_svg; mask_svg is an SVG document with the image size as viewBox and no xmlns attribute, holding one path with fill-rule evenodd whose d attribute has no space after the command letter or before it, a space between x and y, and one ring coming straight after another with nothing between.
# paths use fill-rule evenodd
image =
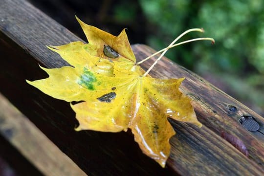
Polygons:
<instances>
[{"instance_id":1,"label":"larger round textured bolt head sunk in the wood at right","mask_svg":"<svg viewBox=\"0 0 264 176\"><path fill-rule=\"evenodd\" d=\"M260 124L252 116L242 116L239 119L241 125L250 132L257 132L260 129Z\"/></svg>"}]
</instances>

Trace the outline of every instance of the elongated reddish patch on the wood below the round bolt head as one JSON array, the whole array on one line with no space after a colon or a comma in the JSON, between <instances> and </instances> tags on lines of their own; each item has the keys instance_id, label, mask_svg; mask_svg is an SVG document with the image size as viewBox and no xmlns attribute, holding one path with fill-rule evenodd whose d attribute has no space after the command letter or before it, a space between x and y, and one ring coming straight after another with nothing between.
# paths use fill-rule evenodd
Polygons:
<instances>
[{"instance_id":1,"label":"elongated reddish patch on the wood below the round bolt head","mask_svg":"<svg viewBox=\"0 0 264 176\"><path fill-rule=\"evenodd\" d=\"M242 140L238 139L236 136L229 134L227 132L221 132L221 137L232 144L236 149L238 149L242 154L248 156L248 151L242 142Z\"/></svg>"}]
</instances>

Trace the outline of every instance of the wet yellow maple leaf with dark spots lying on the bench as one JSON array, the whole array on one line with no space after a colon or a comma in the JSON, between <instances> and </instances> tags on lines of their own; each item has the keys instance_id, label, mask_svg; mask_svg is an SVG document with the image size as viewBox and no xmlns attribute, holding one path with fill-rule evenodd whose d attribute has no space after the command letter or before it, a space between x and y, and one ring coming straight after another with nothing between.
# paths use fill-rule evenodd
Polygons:
<instances>
[{"instance_id":1,"label":"wet yellow maple leaf with dark spots lying on the bench","mask_svg":"<svg viewBox=\"0 0 264 176\"><path fill-rule=\"evenodd\" d=\"M143 153L164 167L169 139L175 134L167 117L201 126L191 100L178 90L184 78L152 78L148 75L151 68L145 72L135 63L125 30L115 37L77 20L88 44L49 46L71 66L41 67L49 77L27 83L57 99L83 101L70 104L79 121L77 131L130 128ZM177 45L176 41L164 50Z\"/></svg>"}]
</instances>

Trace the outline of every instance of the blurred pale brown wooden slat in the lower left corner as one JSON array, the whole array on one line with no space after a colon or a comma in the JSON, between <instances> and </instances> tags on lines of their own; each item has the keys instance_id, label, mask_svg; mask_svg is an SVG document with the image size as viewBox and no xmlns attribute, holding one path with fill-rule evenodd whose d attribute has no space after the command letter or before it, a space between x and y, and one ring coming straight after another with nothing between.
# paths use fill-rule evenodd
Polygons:
<instances>
[{"instance_id":1,"label":"blurred pale brown wooden slat in the lower left corner","mask_svg":"<svg viewBox=\"0 0 264 176\"><path fill-rule=\"evenodd\" d=\"M0 134L45 176L86 176L1 94ZM13 156L11 153L10 155ZM29 172L28 170L27 174Z\"/></svg>"}]
</instances>

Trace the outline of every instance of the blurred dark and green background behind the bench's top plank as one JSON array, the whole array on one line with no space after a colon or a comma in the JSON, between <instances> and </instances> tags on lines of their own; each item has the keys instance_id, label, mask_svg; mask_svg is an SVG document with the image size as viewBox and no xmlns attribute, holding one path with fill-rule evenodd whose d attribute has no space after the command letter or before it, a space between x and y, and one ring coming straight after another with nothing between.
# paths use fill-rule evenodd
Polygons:
<instances>
[{"instance_id":1,"label":"blurred dark and green background behind the bench's top plank","mask_svg":"<svg viewBox=\"0 0 264 176\"><path fill-rule=\"evenodd\" d=\"M264 0L29 0L69 30L85 37L76 22L156 50L181 32L203 27L182 40L213 37L170 49L166 56L264 116ZM177 71L177 70L172 70Z\"/></svg>"}]
</instances>

